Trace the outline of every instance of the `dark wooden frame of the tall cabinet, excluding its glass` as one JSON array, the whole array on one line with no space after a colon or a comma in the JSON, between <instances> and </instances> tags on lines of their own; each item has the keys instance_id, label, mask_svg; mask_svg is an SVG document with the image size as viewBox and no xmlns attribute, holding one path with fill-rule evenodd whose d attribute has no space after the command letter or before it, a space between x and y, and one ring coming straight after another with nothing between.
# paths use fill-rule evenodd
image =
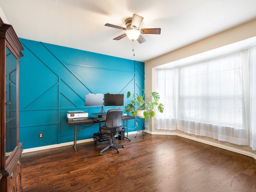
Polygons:
<instances>
[{"instance_id":1,"label":"dark wooden frame of the tall cabinet, excluding its glass","mask_svg":"<svg viewBox=\"0 0 256 192\"><path fill-rule=\"evenodd\" d=\"M12 62L11 66L16 68L16 101L12 102L16 104L16 116L12 116L12 119L16 120L16 141L12 148L8 149L8 158L6 158L6 50L7 48L12 53L12 56L16 58L16 63ZM21 154L22 143L19 142L19 63L22 54L22 44L14 31L13 27L9 24L4 24L0 19L0 117L1 117L1 160L0 160L0 174L2 176L0 182L0 191L22 191L21 186ZM14 60L14 59L13 59ZM9 72L8 72L9 73ZM15 94L15 93L14 93ZM14 106L13 106L14 108ZM16 142L16 143L15 143Z\"/></svg>"}]
</instances>

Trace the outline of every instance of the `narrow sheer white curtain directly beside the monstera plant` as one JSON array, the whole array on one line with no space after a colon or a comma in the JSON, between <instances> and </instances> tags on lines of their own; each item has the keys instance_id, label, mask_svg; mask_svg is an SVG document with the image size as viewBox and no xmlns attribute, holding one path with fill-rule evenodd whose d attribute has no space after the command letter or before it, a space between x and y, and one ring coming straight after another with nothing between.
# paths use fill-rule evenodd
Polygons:
<instances>
[{"instance_id":1,"label":"narrow sheer white curtain directly beside the monstera plant","mask_svg":"<svg viewBox=\"0 0 256 192\"><path fill-rule=\"evenodd\" d=\"M156 112L156 129L176 130L175 70L156 70L156 92L160 94L160 103L164 112Z\"/></svg>"}]
</instances>

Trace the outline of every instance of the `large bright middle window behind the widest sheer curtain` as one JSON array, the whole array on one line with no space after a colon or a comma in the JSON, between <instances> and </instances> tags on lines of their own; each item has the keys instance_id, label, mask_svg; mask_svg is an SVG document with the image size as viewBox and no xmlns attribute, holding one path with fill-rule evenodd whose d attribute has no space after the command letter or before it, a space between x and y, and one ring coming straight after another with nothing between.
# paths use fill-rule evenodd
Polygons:
<instances>
[{"instance_id":1,"label":"large bright middle window behind the widest sheer curtain","mask_svg":"<svg viewBox=\"0 0 256 192\"><path fill-rule=\"evenodd\" d=\"M180 119L242 128L242 57L225 56L179 68Z\"/></svg>"}]
</instances>

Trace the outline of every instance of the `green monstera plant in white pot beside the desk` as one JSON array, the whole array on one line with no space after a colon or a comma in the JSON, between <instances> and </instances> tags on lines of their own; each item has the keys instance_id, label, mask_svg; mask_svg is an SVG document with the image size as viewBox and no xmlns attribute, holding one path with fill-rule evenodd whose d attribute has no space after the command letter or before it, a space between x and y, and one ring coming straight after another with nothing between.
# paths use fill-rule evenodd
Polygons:
<instances>
[{"instance_id":1,"label":"green monstera plant in white pot beside the desk","mask_svg":"<svg viewBox=\"0 0 256 192\"><path fill-rule=\"evenodd\" d=\"M130 98L131 92L129 91L127 93L127 98ZM132 116L136 116L138 118L144 118L145 120L149 119L150 116L155 116L155 112L153 111L154 106L157 107L159 112L164 112L163 104L159 103L159 93L158 92L152 92L150 98L145 100L145 90L141 90L140 96L135 96L135 94L132 95L132 101L130 104L126 105L124 110L127 113L132 113Z\"/></svg>"}]
</instances>

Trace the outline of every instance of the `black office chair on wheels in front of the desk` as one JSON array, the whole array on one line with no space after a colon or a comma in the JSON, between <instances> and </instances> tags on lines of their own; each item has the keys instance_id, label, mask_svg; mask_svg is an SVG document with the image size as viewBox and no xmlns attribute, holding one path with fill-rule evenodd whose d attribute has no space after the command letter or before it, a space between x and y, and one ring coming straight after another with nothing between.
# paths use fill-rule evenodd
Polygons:
<instances>
[{"instance_id":1,"label":"black office chair on wheels in front of the desk","mask_svg":"<svg viewBox=\"0 0 256 192\"><path fill-rule=\"evenodd\" d=\"M116 133L122 131L122 113L123 112L121 109L108 110L105 125L100 126L100 132L108 134L110 136L110 140L109 144L103 150L100 151L100 155L102 155L102 152L109 148L117 150L117 153L119 153L119 149L116 148L116 146L122 146L122 148L124 148L124 144L113 144Z\"/></svg>"}]
</instances>

